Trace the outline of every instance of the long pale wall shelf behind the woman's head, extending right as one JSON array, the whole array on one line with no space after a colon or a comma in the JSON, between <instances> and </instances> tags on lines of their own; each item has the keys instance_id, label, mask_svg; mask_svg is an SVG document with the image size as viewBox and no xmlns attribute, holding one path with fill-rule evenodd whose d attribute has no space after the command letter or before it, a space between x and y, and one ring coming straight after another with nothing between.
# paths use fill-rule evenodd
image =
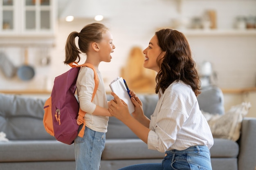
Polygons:
<instances>
[{"instance_id":1,"label":"long pale wall shelf behind the woman's head, extending right","mask_svg":"<svg viewBox=\"0 0 256 170\"><path fill-rule=\"evenodd\" d=\"M186 29L180 30L186 36L216 36L216 35L237 35L237 36L256 36L256 29Z\"/></svg>"}]
</instances>

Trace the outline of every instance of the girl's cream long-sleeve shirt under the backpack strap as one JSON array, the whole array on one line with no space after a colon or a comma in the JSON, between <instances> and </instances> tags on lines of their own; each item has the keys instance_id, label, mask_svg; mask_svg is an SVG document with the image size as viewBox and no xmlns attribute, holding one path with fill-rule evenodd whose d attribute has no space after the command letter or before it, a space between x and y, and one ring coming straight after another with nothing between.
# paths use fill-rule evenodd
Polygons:
<instances>
[{"instance_id":1,"label":"girl's cream long-sleeve shirt under the backpack strap","mask_svg":"<svg viewBox=\"0 0 256 170\"><path fill-rule=\"evenodd\" d=\"M86 112L85 125L97 132L107 132L108 117L92 115L96 106L108 108L108 99L105 91L103 78L99 70L97 70L99 77L99 86L97 92L92 100L92 93L94 90L94 72L89 67L81 67L77 80L76 88L80 108ZM92 100L92 101L91 101Z\"/></svg>"}]
</instances>

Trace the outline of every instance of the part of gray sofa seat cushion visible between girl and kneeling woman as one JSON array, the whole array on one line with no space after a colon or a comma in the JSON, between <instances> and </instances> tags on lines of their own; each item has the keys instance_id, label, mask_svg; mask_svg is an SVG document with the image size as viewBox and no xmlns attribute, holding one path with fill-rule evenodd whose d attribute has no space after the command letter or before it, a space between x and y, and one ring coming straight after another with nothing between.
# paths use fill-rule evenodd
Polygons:
<instances>
[{"instance_id":1,"label":"part of gray sofa seat cushion visible between girl and kneeling woman","mask_svg":"<svg viewBox=\"0 0 256 170\"><path fill-rule=\"evenodd\" d=\"M108 139L101 157L102 160L163 158L164 153L149 150L140 139Z\"/></svg>"}]
</instances>

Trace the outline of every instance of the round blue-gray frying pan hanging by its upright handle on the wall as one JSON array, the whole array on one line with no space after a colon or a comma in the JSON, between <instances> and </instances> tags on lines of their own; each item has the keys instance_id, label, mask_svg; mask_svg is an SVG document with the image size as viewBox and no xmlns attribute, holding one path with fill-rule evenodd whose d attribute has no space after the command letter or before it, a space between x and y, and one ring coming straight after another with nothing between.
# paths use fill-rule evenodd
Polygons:
<instances>
[{"instance_id":1,"label":"round blue-gray frying pan hanging by its upright handle on the wall","mask_svg":"<svg viewBox=\"0 0 256 170\"><path fill-rule=\"evenodd\" d=\"M35 76L34 67L28 64L28 51L25 49L24 53L24 64L18 68L17 75L23 81L31 80Z\"/></svg>"}]
</instances>

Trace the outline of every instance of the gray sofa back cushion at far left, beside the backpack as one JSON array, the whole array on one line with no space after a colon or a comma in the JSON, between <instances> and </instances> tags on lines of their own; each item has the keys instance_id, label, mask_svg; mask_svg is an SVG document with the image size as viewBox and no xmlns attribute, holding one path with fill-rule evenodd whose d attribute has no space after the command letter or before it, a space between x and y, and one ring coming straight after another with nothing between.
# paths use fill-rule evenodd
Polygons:
<instances>
[{"instance_id":1,"label":"gray sofa back cushion at far left, beside the backpack","mask_svg":"<svg viewBox=\"0 0 256 170\"><path fill-rule=\"evenodd\" d=\"M0 94L0 131L10 140L55 139L43 126L45 99Z\"/></svg>"}]
</instances>

